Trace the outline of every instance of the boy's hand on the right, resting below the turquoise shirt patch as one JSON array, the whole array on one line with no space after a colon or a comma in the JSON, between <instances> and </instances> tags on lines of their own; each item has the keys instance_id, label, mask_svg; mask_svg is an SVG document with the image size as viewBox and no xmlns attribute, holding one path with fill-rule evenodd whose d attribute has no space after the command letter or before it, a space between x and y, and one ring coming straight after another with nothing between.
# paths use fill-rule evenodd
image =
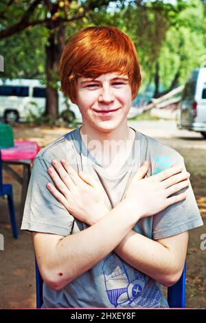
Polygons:
<instances>
[{"instance_id":1,"label":"boy's hand on the right, resting below the turquoise shirt patch","mask_svg":"<svg viewBox=\"0 0 206 323\"><path fill-rule=\"evenodd\" d=\"M186 193L173 197L170 195L190 185L190 173L182 171L181 166L172 166L157 175L144 178L148 169L148 161L144 161L130 181L125 195L133 210L141 214L140 219L157 214L169 205L186 199Z\"/></svg>"}]
</instances>

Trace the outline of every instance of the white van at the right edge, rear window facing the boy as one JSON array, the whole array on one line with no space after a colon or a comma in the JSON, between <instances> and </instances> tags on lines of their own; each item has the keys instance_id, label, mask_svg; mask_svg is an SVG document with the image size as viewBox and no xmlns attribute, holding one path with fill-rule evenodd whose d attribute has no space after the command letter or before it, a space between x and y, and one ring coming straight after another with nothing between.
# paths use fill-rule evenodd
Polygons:
<instances>
[{"instance_id":1,"label":"white van at the right edge, rear window facing the boy","mask_svg":"<svg viewBox=\"0 0 206 323\"><path fill-rule=\"evenodd\" d=\"M185 84L177 127L198 131L206 138L206 67L192 70Z\"/></svg>"}]
</instances>

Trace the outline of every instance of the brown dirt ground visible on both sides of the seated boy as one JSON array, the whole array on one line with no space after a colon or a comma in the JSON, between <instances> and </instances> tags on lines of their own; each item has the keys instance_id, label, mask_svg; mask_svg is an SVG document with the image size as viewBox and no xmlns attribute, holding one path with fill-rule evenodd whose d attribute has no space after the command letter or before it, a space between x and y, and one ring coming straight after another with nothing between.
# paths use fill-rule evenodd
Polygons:
<instances>
[{"instance_id":1,"label":"brown dirt ground visible on both sides of the seated boy","mask_svg":"<svg viewBox=\"0 0 206 323\"><path fill-rule=\"evenodd\" d=\"M150 129L150 126L148 126L148 129ZM36 140L43 147L69 130L49 127L30 128L21 125L14 127L14 136L15 139ZM144 131L144 133L151 135L148 130ZM196 201L205 222L206 141L203 142L203 139L198 135L197 137L188 136L176 137L176 134L174 134L171 137L161 137L157 133L156 137L173 146L185 158L187 170L191 173L191 182ZM195 145L188 144L188 140L190 142L194 140ZM21 166L16 166L16 170L21 173ZM16 215L20 227L19 203L21 186L5 172L3 172L3 181L13 185ZM2 198L0 199L0 210L0 232L5 239L4 251L0 252L0 309L35 308L32 235L27 232L21 232L18 240L12 238L7 201ZM206 308L206 250L203 251L200 247L202 242L201 234L206 234L205 225L190 231L186 285L186 307L188 308Z\"/></svg>"}]
</instances>

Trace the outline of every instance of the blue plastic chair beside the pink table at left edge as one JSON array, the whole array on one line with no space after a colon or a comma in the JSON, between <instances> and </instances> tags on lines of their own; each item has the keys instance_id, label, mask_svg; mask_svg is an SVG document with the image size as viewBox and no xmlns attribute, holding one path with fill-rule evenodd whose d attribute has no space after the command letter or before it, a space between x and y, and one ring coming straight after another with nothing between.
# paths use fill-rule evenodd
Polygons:
<instances>
[{"instance_id":1,"label":"blue plastic chair beside the pink table at left edge","mask_svg":"<svg viewBox=\"0 0 206 323\"><path fill-rule=\"evenodd\" d=\"M11 184L3 184L2 180L2 162L1 162L1 150L0 150L0 197L7 195L8 197L8 208L10 214L10 221L12 225L12 233L14 238L19 237L19 232L16 225L16 215L15 215L15 208L14 208L14 199L12 193L12 185Z\"/></svg>"}]
</instances>

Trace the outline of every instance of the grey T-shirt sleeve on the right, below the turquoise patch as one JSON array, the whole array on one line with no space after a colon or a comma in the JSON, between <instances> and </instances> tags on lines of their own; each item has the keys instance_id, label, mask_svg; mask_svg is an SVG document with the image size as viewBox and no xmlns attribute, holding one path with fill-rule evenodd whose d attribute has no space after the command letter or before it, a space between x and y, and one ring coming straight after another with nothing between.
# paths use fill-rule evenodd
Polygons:
<instances>
[{"instance_id":1,"label":"grey T-shirt sleeve on the right, below the turquoise patch","mask_svg":"<svg viewBox=\"0 0 206 323\"><path fill-rule=\"evenodd\" d=\"M185 169L183 157L175 164L181 165ZM187 198L185 200L170 205L153 216L152 238L154 240L174 236L203 225L191 184L175 194L181 192L186 192Z\"/></svg>"}]
</instances>

